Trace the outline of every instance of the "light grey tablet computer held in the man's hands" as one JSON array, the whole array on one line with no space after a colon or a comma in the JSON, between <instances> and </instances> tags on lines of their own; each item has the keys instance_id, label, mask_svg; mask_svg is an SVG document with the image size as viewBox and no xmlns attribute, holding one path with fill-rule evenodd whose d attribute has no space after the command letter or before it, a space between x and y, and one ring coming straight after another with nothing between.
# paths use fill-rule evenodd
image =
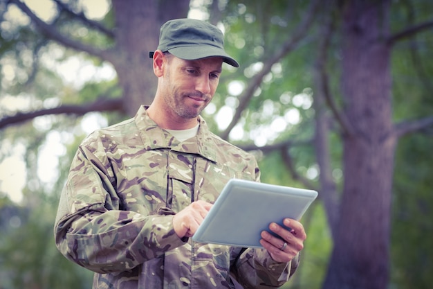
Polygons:
<instances>
[{"instance_id":1,"label":"light grey tablet computer held in the man's hands","mask_svg":"<svg viewBox=\"0 0 433 289\"><path fill-rule=\"evenodd\" d=\"M236 247L262 247L260 233L270 222L300 220L317 192L230 179L192 240ZM283 225L284 226L284 225Z\"/></svg>"}]
</instances>

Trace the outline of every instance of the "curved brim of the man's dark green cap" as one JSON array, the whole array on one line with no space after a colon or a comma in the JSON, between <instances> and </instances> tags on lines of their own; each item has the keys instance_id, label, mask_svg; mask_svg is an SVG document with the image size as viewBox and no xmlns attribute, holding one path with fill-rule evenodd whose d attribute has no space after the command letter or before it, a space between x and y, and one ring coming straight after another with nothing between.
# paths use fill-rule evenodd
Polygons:
<instances>
[{"instance_id":1,"label":"curved brim of the man's dark green cap","mask_svg":"<svg viewBox=\"0 0 433 289\"><path fill-rule=\"evenodd\" d=\"M223 62L232 67L239 67L239 63L222 49L214 46L183 46L168 50L177 58L184 60L198 60L202 58L221 57Z\"/></svg>"}]
</instances>

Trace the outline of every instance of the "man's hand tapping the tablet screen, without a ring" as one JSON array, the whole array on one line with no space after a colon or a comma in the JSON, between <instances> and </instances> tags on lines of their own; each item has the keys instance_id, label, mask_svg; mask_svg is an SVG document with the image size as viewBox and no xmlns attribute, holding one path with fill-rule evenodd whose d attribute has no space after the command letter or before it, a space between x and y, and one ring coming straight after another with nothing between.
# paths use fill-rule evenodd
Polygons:
<instances>
[{"instance_id":1,"label":"man's hand tapping the tablet screen, without a ring","mask_svg":"<svg viewBox=\"0 0 433 289\"><path fill-rule=\"evenodd\" d=\"M179 238L192 237L211 207L212 204L198 200L176 213L173 217L173 228L177 236Z\"/></svg>"}]
</instances>

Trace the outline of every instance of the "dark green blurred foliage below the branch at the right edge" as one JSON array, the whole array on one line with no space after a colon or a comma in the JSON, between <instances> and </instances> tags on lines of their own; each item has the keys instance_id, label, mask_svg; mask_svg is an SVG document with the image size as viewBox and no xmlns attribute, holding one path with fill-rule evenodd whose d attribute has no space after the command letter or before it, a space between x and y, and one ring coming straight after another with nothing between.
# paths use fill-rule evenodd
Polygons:
<instances>
[{"instance_id":1,"label":"dark green blurred foliage below the branch at the right edge","mask_svg":"<svg viewBox=\"0 0 433 289\"><path fill-rule=\"evenodd\" d=\"M432 148L433 132L430 137L416 135L403 139L398 146L391 230L391 288L431 288ZM412 161L408 161L411 157Z\"/></svg>"}]
</instances>

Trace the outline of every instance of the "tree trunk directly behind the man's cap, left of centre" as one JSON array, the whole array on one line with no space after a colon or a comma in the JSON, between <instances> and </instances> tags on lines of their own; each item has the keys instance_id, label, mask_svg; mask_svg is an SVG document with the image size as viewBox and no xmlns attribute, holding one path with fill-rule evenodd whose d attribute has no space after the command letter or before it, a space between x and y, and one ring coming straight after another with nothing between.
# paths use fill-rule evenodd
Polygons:
<instances>
[{"instance_id":1,"label":"tree trunk directly behind the man's cap, left of centre","mask_svg":"<svg viewBox=\"0 0 433 289\"><path fill-rule=\"evenodd\" d=\"M168 19L187 17L189 4L190 0L113 0L116 58L112 63L130 116L140 105L150 105L154 99L157 80L149 51L158 46L160 26Z\"/></svg>"}]
</instances>

